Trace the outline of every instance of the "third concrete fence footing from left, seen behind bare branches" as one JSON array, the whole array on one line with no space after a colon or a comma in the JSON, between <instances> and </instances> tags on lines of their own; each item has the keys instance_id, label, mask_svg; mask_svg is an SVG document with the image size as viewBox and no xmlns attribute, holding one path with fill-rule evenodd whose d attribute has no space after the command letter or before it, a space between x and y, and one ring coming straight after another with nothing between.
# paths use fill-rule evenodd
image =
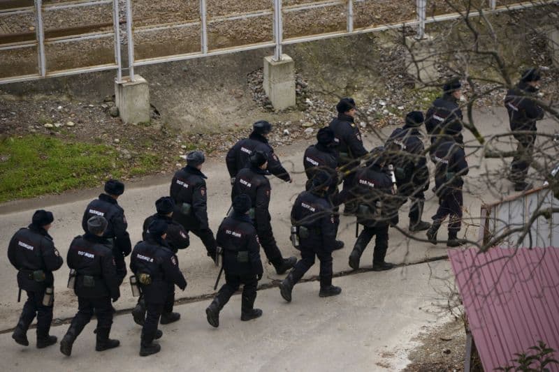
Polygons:
<instances>
[{"instance_id":1,"label":"third concrete fence footing from left, seen behind bare branches","mask_svg":"<svg viewBox=\"0 0 559 372\"><path fill-rule=\"evenodd\" d=\"M406 45L409 48L406 53L407 73L414 77L416 85L417 82L423 84L436 82L439 76L435 68L437 52L433 46L433 37L425 35L421 40L417 40L413 36L408 36Z\"/></svg>"}]
</instances>

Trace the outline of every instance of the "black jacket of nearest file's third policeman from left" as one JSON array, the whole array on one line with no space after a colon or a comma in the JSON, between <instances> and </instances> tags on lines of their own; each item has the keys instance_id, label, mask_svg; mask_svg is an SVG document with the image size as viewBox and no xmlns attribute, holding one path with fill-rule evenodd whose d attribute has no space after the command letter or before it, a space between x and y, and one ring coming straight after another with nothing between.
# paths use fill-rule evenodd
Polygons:
<instances>
[{"instance_id":1,"label":"black jacket of nearest file's third policeman from left","mask_svg":"<svg viewBox=\"0 0 559 372\"><path fill-rule=\"evenodd\" d=\"M167 298L168 284L175 284L184 290L187 281L179 269L178 260L165 241L156 241L148 236L147 241L140 241L132 251L130 269L134 275L149 274L152 283L140 283L143 297L150 304L164 304Z\"/></svg>"}]
</instances>

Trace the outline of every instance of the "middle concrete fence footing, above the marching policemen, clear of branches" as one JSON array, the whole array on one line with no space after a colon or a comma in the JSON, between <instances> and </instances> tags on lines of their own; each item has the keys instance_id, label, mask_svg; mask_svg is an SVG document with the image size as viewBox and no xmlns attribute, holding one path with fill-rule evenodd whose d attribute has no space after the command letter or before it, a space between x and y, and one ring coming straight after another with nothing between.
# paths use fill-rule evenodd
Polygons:
<instances>
[{"instance_id":1,"label":"middle concrete fence footing, above the marching policemen, clear of branches","mask_svg":"<svg viewBox=\"0 0 559 372\"><path fill-rule=\"evenodd\" d=\"M264 91L275 110L284 110L295 105L295 62L287 54L274 61L264 57Z\"/></svg>"}]
</instances>

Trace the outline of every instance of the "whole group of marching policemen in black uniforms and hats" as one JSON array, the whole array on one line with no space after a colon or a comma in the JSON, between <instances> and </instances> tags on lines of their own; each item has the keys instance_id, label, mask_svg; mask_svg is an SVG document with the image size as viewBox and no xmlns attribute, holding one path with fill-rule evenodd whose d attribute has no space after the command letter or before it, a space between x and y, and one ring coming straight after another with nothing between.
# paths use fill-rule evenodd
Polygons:
<instances>
[{"instance_id":1,"label":"whole group of marching policemen in black uniforms and hats","mask_svg":"<svg viewBox=\"0 0 559 372\"><path fill-rule=\"evenodd\" d=\"M511 166L516 189L528 187L525 177L535 139L535 121L543 117L541 108L529 99L537 90L538 81L537 69L526 70L505 100L511 129L523 131L518 136L520 155ZM60 342L60 351L71 355L73 343L93 315L97 318L96 350L119 345L119 341L109 337L115 312L112 302L119 299L119 286L126 278L124 258L131 255L129 267L133 275L129 280L133 295L138 297L132 315L143 327L140 355L159 352L161 346L154 342L163 336L159 323L165 325L180 319L180 314L173 312L175 286L184 290L187 281L179 269L177 253L189 246L190 232L201 239L211 260L216 264L222 262L225 272L225 284L205 310L213 327L219 326L219 312L240 285L241 320L262 315L259 308L254 308L256 288L263 275L260 246L277 274L289 270L279 284L280 294L287 302L291 302L293 287L314 265L315 258L320 262L319 296L339 295L341 288L332 284L332 252L344 246L337 240L342 204L343 214L356 216L356 228L363 226L349 255L352 269L359 268L361 255L373 237L372 270L393 267L384 260L389 228L398 225L398 209L407 200L410 233L427 230L428 241L437 244L437 230L449 216L447 246L464 244L457 236L462 217L463 177L468 172L463 118L458 105L460 90L460 80L449 80L444 84L443 95L433 102L425 117L422 112L409 112L405 125L393 131L384 147L371 151L363 147L354 119L354 100L342 98L337 103L337 117L318 131L317 143L308 147L303 156L305 191L298 195L291 209L291 242L300 251L300 260L285 258L273 235L269 211L272 188L268 177L273 174L289 183L292 179L268 143L272 126L267 121L256 121L251 135L237 142L226 155L232 206L216 235L208 224L207 177L202 172L205 157L201 151L187 154L187 165L171 180L170 195L157 200L157 213L145 219L143 240L133 248L124 210L117 202L124 193L124 184L114 179L107 181L104 193L85 207L84 233L73 239L66 256L71 269L68 288L78 296L78 313ZM428 141L419 131L423 124ZM533 135L524 133L530 129ZM424 142L428 142L428 147ZM424 193L430 185L428 158L435 164L433 191L439 200L433 223L421 220ZM63 265L63 259L48 233L53 221L51 212L36 211L31 224L18 230L8 247L8 258L17 269L20 295L22 290L27 293L12 335L20 345L29 345L27 330L35 317L37 348L57 343L57 338L49 334L54 302L52 271Z\"/></svg>"}]
</instances>

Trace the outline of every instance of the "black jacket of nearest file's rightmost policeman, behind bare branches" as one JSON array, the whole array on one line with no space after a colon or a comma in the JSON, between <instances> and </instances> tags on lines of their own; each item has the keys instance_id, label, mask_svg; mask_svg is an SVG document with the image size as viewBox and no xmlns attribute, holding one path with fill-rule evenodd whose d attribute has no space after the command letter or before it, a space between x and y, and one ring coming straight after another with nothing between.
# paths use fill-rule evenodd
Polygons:
<instances>
[{"instance_id":1,"label":"black jacket of nearest file's rightmost policeman, behind bare branches","mask_svg":"<svg viewBox=\"0 0 559 372\"><path fill-rule=\"evenodd\" d=\"M433 154L435 168L435 186L437 195L460 188L464 181L461 176L468 172L464 149L453 137L444 136L437 151Z\"/></svg>"}]
</instances>

